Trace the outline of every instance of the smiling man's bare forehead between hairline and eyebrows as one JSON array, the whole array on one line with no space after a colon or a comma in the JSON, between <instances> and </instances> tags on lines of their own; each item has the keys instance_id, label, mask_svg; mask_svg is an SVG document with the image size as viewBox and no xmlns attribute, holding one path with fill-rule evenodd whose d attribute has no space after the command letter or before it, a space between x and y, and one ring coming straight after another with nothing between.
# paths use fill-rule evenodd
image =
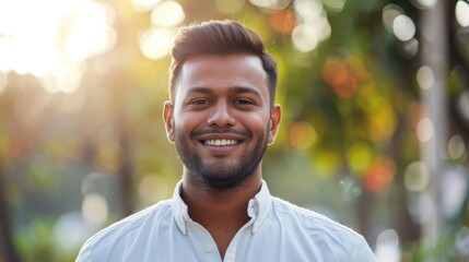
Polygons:
<instances>
[{"instance_id":1,"label":"smiling man's bare forehead between hairline and eyebrows","mask_svg":"<svg viewBox=\"0 0 469 262\"><path fill-rule=\"evenodd\" d=\"M183 64L177 96L190 87L225 87L245 86L257 88L268 96L268 75L257 56L248 53L200 55L192 57Z\"/></svg>"}]
</instances>

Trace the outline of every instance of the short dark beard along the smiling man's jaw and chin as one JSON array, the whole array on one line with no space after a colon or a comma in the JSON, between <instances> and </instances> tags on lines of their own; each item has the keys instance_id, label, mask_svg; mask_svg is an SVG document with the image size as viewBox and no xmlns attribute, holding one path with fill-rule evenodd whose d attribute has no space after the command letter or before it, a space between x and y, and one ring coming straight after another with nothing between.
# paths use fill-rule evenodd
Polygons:
<instances>
[{"instance_id":1,"label":"short dark beard along the smiling man's jaw and chin","mask_svg":"<svg viewBox=\"0 0 469 262\"><path fill-rule=\"evenodd\" d=\"M267 129L269 130L269 129ZM255 146L254 152L243 155L236 163L224 160L207 165L200 155L189 150L183 133L176 133L176 148L179 158L188 171L188 178L201 188L212 191L230 191L243 186L247 178L254 175L267 150L267 132L262 134ZM250 135L251 138L251 135ZM247 143L244 141L243 143Z\"/></svg>"}]
</instances>

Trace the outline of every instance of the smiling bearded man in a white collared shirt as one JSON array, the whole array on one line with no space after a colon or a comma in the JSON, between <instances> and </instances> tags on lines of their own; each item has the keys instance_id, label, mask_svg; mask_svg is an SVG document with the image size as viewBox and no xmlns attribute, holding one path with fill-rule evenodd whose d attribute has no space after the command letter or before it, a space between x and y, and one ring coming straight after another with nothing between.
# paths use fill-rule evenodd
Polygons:
<instances>
[{"instance_id":1,"label":"smiling bearded man in a white collared shirt","mask_svg":"<svg viewBox=\"0 0 469 262\"><path fill-rule=\"evenodd\" d=\"M375 261L353 230L270 195L261 158L281 108L260 37L206 22L183 28L172 56L163 117L183 179L172 200L89 239L77 261Z\"/></svg>"}]
</instances>

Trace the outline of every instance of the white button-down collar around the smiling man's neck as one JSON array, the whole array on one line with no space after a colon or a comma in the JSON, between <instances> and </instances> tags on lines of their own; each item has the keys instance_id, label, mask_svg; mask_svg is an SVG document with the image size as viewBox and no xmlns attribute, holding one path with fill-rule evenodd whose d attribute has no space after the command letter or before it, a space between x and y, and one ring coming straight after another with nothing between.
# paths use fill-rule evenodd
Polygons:
<instances>
[{"instance_id":1,"label":"white button-down collar around the smiling man's neck","mask_svg":"<svg viewBox=\"0 0 469 262\"><path fill-rule=\"evenodd\" d=\"M180 190L183 187L183 180L180 180L175 189L173 194L173 217L179 227L179 230L186 235L187 234L187 223L191 222L189 217L189 212L186 203L184 203L180 198ZM251 233L255 234L257 229L259 229L262 222L266 219L267 215L270 212L272 206L272 200L270 198L270 191L267 187L265 180L262 180L262 186L260 187L259 192L249 200L247 205L247 214L251 219L249 224L251 224Z\"/></svg>"}]
</instances>

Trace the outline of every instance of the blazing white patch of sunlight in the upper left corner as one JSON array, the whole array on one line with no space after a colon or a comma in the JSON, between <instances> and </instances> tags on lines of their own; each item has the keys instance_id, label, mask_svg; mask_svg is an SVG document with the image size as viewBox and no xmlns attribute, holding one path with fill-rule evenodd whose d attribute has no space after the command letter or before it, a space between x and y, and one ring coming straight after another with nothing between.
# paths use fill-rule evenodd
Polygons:
<instances>
[{"instance_id":1,"label":"blazing white patch of sunlight in the upper left corner","mask_svg":"<svg viewBox=\"0 0 469 262\"><path fill-rule=\"evenodd\" d=\"M113 20L112 8L91 0L0 1L0 72L31 73L56 84L80 80L80 70L71 69L114 46ZM46 90L78 88L56 84Z\"/></svg>"}]
</instances>

